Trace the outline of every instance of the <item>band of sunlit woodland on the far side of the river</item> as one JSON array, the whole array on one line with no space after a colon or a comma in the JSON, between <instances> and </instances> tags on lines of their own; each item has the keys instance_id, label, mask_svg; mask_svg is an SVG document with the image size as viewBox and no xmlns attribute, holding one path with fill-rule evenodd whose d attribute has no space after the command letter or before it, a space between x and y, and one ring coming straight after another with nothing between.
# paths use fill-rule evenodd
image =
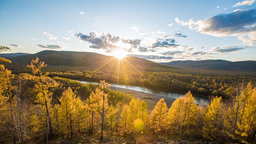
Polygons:
<instances>
[{"instance_id":1,"label":"band of sunlit woodland on the far side of the river","mask_svg":"<svg viewBox=\"0 0 256 144\"><path fill-rule=\"evenodd\" d=\"M250 82L255 85L252 77L236 77L236 76L201 76L193 74L178 74L172 72L146 72L137 71L129 73L102 72L97 71L69 71L69 72L51 72L50 77L58 76L69 79L85 80L97 82L105 79L109 83L117 83L126 85L138 85L166 92L186 93L189 90L194 95L210 96L218 95L224 99L234 91L237 82Z\"/></svg>"}]
</instances>

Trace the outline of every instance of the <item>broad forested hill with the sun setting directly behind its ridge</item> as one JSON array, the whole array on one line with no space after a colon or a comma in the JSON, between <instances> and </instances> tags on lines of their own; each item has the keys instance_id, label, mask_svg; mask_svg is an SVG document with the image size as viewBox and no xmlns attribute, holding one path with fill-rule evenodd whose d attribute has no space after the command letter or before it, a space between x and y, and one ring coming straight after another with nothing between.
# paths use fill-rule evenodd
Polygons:
<instances>
[{"instance_id":1,"label":"broad forested hill with the sun setting directly behind its ridge","mask_svg":"<svg viewBox=\"0 0 256 144\"><path fill-rule=\"evenodd\" d=\"M45 50L35 54L10 57L8 59L12 60L12 64L6 64L6 67L12 69L14 73L24 72L21 68L30 64L30 61L36 57L48 65L48 71L83 71L96 69L101 71L117 71L119 65L119 60L117 58L99 53ZM137 57L125 57L125 59L120 60L120 71L136 71L135 68L138 70L150 71L177 71L180 69Z\"/></svg>"}]
</instances>

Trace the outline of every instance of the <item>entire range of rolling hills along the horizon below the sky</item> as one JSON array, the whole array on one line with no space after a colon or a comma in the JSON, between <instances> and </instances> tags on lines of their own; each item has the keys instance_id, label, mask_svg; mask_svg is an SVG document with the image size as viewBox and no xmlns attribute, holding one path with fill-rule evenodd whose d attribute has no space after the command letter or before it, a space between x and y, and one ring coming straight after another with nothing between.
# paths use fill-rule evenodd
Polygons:
<instances>
[{"instance_id":1,"label":"entire range of rolling hills along the horizon below the sky","mask_svg":"<svg viewBox=\"0 0 256 144\"><path fill-rule=\"evenodd\" d=\"M12 60L12 64L6 64L6 67L12 69L13 73L29 72L25 66L30 64L32 59L39 57L41 61L44 61L48 65L46 70L50 72L97 69L114 72L119 69L120 72L122 72L136 71L137 69L140 71L175 72L200 75L256 76L256 61L231 62L227 60L184 60L156 63L137 57L125 57L125 59L119 61L118 58L113 56L106 56L94 52L52 50L45 50L35 54L2 54L2 56L4 55L9 60Z\"/></svg>"}]
</instances>

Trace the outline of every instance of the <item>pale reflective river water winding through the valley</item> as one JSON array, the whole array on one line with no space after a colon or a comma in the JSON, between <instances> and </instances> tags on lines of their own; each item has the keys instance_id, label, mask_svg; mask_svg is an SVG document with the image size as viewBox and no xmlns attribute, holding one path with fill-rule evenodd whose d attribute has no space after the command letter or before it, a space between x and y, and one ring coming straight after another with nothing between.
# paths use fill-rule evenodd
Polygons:
<instances>
[{"instance_id":1,"label":"pale reflective river water winding through the valley","mask_svg":"<svg viewBox=\"0 0 256 144\"><path fill-rule=\"evenodd\" d=\"M99 82L88 82L88 81L79 81L79 82L85 83L85 84L90 84L90 83L100 84ZM135 91L139 91L139 92L145 92L145 93L161 95L161 96L170 97L170 98L174 98L174 99L177 99L180 96L184 97L184 95L185 95L185 94L182 94L182 93L163 92L163 91L152 90L152 89L148 89L148 88L144 88L144 87L139 87L139 86L133 86L133 85L111 84L111 83L110 83L110 85L114 86L114 87L120 87L120 88L135 90ZM198 96L194 96L194 98L195 98L194 102L196 104L207 105L207 103L209 103L209 99L207 99L207 98L198 97Z\"/></svg>"}]
</instances>

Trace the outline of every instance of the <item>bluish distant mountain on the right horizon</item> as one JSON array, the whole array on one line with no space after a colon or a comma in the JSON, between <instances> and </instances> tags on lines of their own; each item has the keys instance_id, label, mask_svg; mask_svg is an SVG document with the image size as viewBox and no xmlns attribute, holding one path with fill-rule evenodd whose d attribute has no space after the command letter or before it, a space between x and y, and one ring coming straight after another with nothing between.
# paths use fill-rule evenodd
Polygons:
<instances>
[{"instance_id":1,"label":"bluish distant mountain on the right horizon","mask_svg":"<svg viewBox=\"0 0 256 144\"><path fill-rule=\"evenodd\" d=\"M189 68L196 70L216 70L216 71L245 71L256 74L256 61L227 61L227 60L177 60L162 62L161 64L176 67Z\"/></svg>"}]
</instances>

